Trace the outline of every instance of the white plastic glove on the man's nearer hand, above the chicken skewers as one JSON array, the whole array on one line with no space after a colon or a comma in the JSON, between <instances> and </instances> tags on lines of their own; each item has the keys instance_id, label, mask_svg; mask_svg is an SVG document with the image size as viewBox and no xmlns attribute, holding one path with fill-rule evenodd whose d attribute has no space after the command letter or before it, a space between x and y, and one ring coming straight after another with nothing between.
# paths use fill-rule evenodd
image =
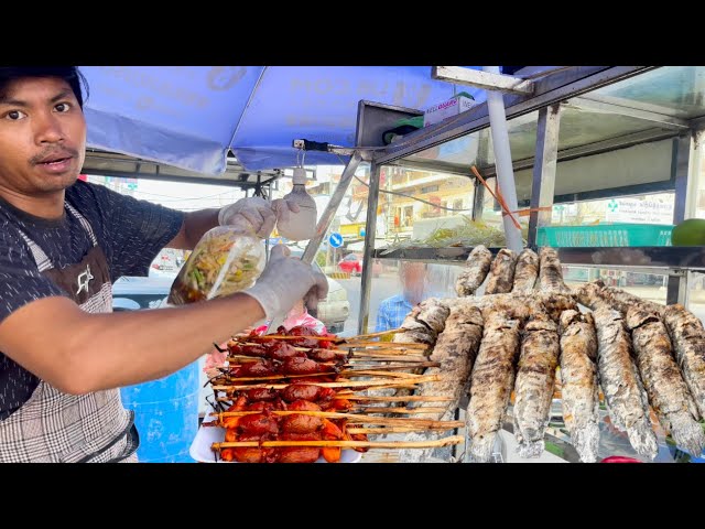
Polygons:
<instances>
[{"instance_id":1,"label":"white plastic glove on the man's nearer hand, above the chicken skewers","mask_svg":"<svg viewBox=\"0 0 705 529\"><path fill-rule=\"evenodd\" d=\"M242 291L262 305L267 320L286 314L302 299L308 309L315 309L328 295L326 277L290 255L284 245L274 246L257 283Z\"/></svg>"}]
</instances>

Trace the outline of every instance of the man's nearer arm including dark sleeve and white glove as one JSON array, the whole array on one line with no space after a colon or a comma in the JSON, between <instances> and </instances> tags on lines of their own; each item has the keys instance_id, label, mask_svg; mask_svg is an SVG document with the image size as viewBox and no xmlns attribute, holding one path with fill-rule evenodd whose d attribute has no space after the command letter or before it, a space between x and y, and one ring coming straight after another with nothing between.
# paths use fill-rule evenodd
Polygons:
<instances>
[{"instance_id":1,"label":"man's nearer arm including dark sleeve and white glove","mask_svg":"<svg viewBox=\"0 0 705 529\"><path fill-rule=\"evenodd\" d=\"M2 234L0 233L0 241ZM248 290L186 306L89 314L31 270L4 273L0 350L67 393L140 384L170 375L208 353L212 344L264 317L288 312L302 298L315 306L328 292L323 273L275 246ZM2 253L0 252L0 263ZM24 256L24 261L29 258ZM15 288L28 278L30 295ZM2 298L0 298L2 299ZM9 307L4 305L9 304ZM11 310L10 310L11 307Z\"/></svg>"}]
</instances>

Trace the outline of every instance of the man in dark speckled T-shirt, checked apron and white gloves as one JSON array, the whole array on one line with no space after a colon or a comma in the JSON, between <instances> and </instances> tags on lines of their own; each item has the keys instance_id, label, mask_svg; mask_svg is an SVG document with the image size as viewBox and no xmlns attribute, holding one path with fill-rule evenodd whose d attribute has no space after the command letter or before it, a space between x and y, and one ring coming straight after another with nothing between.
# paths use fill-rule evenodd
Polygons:
<instances>
[{"instance_id":1,"label":"man in dark speckled T-shirt, checked apron and white gloves","mask_svg":"<svg viewBox=\"0 0 705 529\"><path fill-rule=\"evenodd\" d=\"M260 237L283 202L183 214L77 181L85 159L75 67L0 67L0 462L137 461L119 389L170 375L304 298L323 274L275 247L257 284L218 300L116 314L111 282L218 224ZM295 210L295 207L292 207Z\"/></svg>"}]
</instances>

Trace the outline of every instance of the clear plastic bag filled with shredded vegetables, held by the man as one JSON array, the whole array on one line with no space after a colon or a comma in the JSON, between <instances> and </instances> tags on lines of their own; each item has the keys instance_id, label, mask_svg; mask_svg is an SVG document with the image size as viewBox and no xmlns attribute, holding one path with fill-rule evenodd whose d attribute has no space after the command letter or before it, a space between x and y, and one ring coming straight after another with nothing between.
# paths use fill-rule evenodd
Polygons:
<instances>
[{"instance_id":1,"label":"clear plastic bag filled with shredded vegetables, held by the man","mask_svg":"<svg viewBox=\"0 0 705 529\"><path fill-rule=\"evenodd\" d=\"M204 234L172 284L169 303L183 305L249 289L264 269L262 240L239 227Z\"/></svg>"}]
</instances>

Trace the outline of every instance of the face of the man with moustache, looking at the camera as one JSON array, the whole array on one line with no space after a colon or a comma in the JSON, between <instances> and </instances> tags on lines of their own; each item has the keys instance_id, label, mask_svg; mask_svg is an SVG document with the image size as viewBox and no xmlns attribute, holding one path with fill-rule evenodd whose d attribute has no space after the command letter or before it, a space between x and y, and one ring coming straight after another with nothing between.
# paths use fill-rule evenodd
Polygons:
<instances>
[{"instance_id":1,"label":"face of the man with moustache, looking at the camera","mask_svg":"<svg viewBox=\"0 0 705 529\"><path fill-rule=\"evenodd\" d=\"M10 83L0 98L0 188L54 193L76 182L86 156L86 120L58 78Z\"/></svg>"}]
</instances>

